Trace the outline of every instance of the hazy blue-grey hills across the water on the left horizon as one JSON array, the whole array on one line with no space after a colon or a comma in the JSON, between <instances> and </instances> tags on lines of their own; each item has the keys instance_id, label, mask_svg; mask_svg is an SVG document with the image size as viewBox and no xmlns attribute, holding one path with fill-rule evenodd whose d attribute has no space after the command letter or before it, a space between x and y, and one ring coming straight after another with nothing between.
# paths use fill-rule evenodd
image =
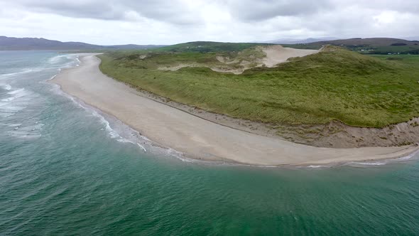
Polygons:
<instances>
[{"instance_id":1,"label":"hazy blue-grey hills across the water on the left horizon","mask_svg":"<svg viewBox=\"0 0 419 236\"><path fill-rule=\"evenodd\" d=\"M162 45L94 45L80 42L61 42L45 38L13 38L0 36L0 50L118 50L158 48Z\"/></svg>"}]
</instances>

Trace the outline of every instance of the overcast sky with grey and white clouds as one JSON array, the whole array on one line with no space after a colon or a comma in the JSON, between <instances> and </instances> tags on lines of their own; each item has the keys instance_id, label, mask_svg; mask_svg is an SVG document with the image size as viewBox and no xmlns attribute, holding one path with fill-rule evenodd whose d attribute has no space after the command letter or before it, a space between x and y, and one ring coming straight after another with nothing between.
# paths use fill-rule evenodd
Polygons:
<instances>
[{"instance_id":1,"label":"overcast sky with grey and white clouds","mask_svg":"<svg viewBox=\"0 0 419 236\"><path fill-rule=\"evenodd\" d=\"M111 44L419 36L419 0L0 0L0 35Z\"/></svg>"}]
</instances>

